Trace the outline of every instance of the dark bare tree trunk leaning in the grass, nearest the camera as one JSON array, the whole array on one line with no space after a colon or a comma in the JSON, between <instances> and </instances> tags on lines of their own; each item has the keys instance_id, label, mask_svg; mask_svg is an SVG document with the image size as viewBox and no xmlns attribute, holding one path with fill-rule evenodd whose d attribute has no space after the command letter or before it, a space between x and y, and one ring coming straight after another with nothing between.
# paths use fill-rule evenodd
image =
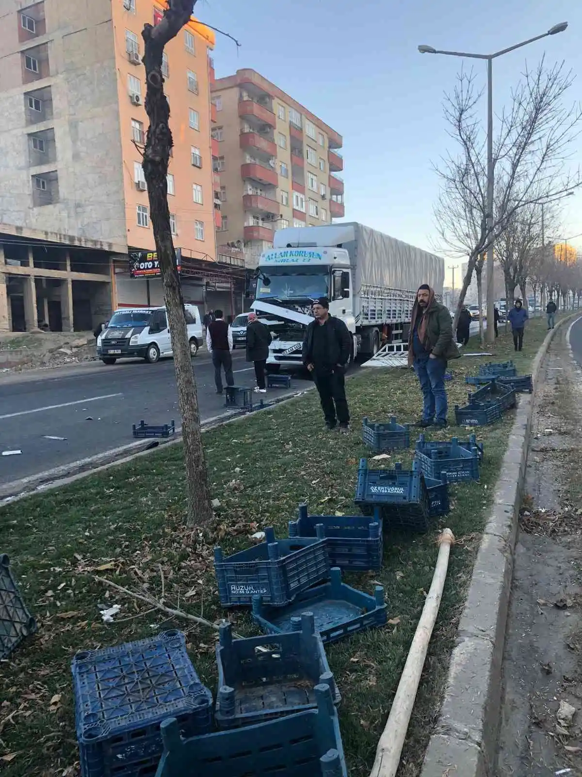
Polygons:
<instances>
[{"instance_id":1,"label":"dark bare tree trunk leaning in the grass, nearest the camera","mask_svg":"<svg viewBox=\"0 0 582 777\"><path fill-rule=\"evenodd\" d=\"M174 352L178 405L182 414L185 480L188 495L188 524L205 526L213 519L208 473L200 430L196 378L186 330L182 287L171 239L168 207L168 162L173 145L169 127L170 107L164 94L161 61L165 44L189 22L196 0L170 0L158 26L146 24L144 65L147 92L145 109L150 120L144 150L144 176L150 199L151 223L164 284L164 298Z\"/></svg>"}]
</instances>

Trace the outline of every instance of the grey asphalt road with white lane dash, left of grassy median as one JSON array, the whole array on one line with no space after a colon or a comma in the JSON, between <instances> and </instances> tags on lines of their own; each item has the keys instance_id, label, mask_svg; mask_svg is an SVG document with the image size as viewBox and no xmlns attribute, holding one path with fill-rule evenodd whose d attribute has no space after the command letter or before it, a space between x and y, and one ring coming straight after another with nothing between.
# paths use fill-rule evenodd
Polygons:
<instances>
[{"instance_id":1,"label":"grey asphalt road with white lane dash, left of grassy median","mask_svg":"<svg viewBox=\"0 0 582 777\"><path fill-rule=\"evenodd\" d=\"M236 385L254 386L253 367L244 361L244 350L234 351L233 362ZM209 354L201 352L192 364L202 420L225 413ZM292 381L293 391L310 385L299 375ZM271 389L259 396L269 399L286 393ZM141 419L154 424L175 420L177 427L181 425L172 359L158 364L120 361L113 367L88 362L0 376L0 454L22 451L0 455L0 484L130 444L132 424Z\"/></svg>"}]
</instances>

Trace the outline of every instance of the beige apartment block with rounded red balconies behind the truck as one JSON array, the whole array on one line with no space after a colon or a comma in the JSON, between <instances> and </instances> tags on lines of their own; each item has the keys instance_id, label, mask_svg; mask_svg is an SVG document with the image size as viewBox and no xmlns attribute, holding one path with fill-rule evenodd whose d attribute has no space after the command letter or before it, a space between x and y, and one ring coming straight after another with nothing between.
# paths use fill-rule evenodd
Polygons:
<instances>
[{"instance_id":1,"label":"beige apartment block with rounded red balconies behind the truck","mask_svg":"<svg viewBox=\"0 0 582 777\"><path fill-rule=\"evenodd\" d=\"M243 246L247 267L256 267L275 229L344 217L338 132L254 70L218 78L211 92L219 243Z\"/></svg>"}]
</instances>

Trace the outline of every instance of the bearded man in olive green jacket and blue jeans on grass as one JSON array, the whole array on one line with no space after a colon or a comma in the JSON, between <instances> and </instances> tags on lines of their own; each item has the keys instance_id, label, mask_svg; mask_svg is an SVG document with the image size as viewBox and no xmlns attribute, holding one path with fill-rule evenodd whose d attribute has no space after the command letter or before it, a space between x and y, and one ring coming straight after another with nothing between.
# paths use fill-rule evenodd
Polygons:
<instances>
[{"instance_id":1,"label":"bearded man in olive green jacket and blue jeans on grass","mask_svg":"<svg viewBox=\"0 0 582 777\"><path fill-rule=\"evenodd\" d=\"M419 287L412 308L408 336L408 365L414 367L423 397L422 417L418 426L447 426L447 361L460 354L452 337L451 314L435 299L428 284Z\"/></svg>"}]
</instances>

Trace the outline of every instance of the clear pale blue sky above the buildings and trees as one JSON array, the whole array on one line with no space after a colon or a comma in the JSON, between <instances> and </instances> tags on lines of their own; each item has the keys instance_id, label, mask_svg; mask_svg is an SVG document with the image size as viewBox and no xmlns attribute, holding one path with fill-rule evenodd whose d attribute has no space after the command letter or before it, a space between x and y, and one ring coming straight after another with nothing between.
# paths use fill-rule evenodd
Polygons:
<instances>
[{"instance_id":1,"label":"clear pale blue sky above the buildings and trees","mask_svg":"<svg viewBox=\"0 0 582 777\"><path fill-rule=\"evenodd\" d=\"M462 62L484 87L487 64L419 54L417 46L490 54L567 21L566 32L494 61L494 111L508 103L526 62L544 53L548 64L572 69L566 100L580 101L582 4L530 0L528 8L516 0L199 0L195 14L241 42L237 49L217 35L217 78L253 68L343 135L346 221L434 250L434 166L453 148L443 96ZM484 122L485 99L482 110ZM577 169L582 138L572 151ZM562 237L582 232L582 190L566 200L562 229ZM582 246L582 238L572 242Z\"/></svg>"}]
</instances>

